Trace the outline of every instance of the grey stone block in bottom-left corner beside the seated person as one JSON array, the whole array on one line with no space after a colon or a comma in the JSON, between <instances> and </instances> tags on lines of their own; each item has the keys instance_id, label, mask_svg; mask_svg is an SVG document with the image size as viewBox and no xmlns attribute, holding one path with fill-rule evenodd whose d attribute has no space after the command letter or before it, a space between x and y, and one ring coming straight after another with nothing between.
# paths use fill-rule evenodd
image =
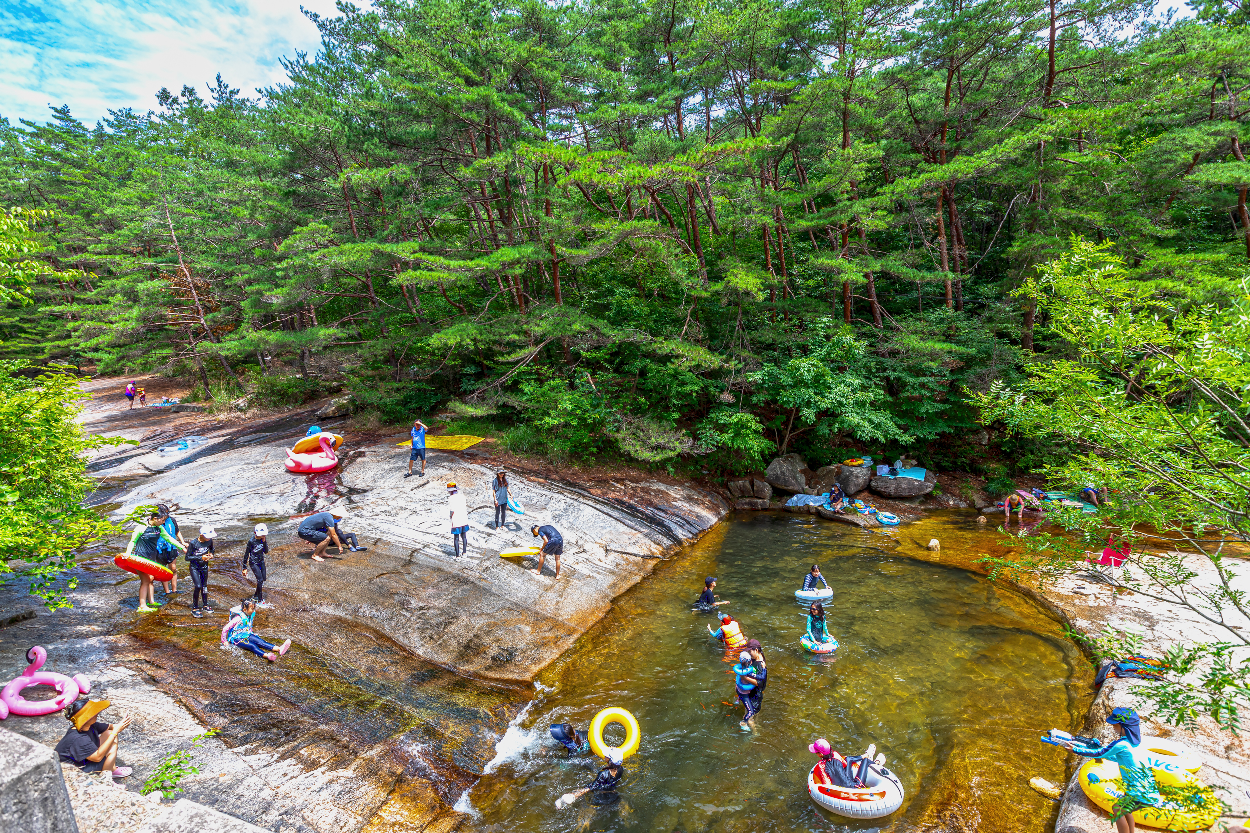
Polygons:
<instances>
[{"instance_id":1,"label":"grey stone block in bottom-left corner beside the seated person","mask_svg":"<svg viewBox=\"0 0 1250 833\"><path fill-rule=\"evenodd\" d=\"M56 753L6 728L0 728L0 831L78 833Z\"/></svg>"}]
</instances>

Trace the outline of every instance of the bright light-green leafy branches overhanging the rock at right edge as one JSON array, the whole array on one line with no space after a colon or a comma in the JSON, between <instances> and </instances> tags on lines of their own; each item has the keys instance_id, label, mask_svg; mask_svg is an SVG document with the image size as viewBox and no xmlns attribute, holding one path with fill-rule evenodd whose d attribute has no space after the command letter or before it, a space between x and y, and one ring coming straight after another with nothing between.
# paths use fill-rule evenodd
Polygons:
<instances>
[{"instance_id":1,"label":"bright light-green leafy branches overhanging the rock at right edge","mask_svg":"<svg viewBox=\"0 0 1250 833\"><path fill-rule=\"evenodd\" d=\"M1128 548L1112 581L1188 607L1225 637L1171 647L1171 679L1139 694L1174 724L1206 713L1236 729L1250 708L1250 634L1239 624L1250 598L1235 566L1250 537L1250 287L1191 306L1130 280L1112 249L1075 240L1028 281L1021 293L1071 357L978 401L985 420L1071 443L1079 453L1046 467L1050 481L1105 486L1111 502L1062 513L1068 535L1021 537L1022 555L995 567L1048 581L1109 542Z\"/></svg>"}]
</instances>

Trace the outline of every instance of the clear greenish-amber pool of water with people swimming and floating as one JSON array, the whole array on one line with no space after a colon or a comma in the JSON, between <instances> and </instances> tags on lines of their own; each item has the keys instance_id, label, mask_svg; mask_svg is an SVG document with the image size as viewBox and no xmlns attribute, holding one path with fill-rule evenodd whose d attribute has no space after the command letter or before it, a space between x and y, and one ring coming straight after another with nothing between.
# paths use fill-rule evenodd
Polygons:
<instances>
[{"instance_id":1,"label":"clear greenish-amber pool of water with people swimming and floating","mask_svg":"<svg viewBox=\"0 0 1250 833\"><path fill-rule=\"evenodd\" d=\"M986 531L945 520L942 547L964 559ZM540 693L499 743L469 793L469 829L531 831L1046 831L1058 804L1028 787L1064 778L1064 758L1040 732L1075 728L1089 669L1059 622L1025 596L968 569L896 557L901 537L811 516L756 515L721 525L621 597L612 613L544 672ZM895 531L898 535L898 531ZM990 532L989 535L992 535ZM964 541L960 541L964 538ZM820 562L836 589L832 657L799 644L794 599ZM691 611L702 577L760 639L769 688L758 729L739 729L730 663ZM541 691L550 689L550 691ZM640 721L622 802L556 811L590 772L544 756L552 722L579 727L606 706ZM855 822L808 797L829 738L846 753L876 743L908 798L885 819ZM461 802L461 808L464 802Z\"/></svg>"}]
</instances>

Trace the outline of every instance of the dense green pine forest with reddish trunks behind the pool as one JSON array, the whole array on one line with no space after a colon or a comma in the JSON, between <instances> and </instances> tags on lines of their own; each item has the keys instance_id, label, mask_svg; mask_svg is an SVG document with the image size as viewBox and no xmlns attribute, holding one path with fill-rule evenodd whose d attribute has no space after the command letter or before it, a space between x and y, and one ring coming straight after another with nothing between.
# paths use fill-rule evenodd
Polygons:
<instances>
[{"instance_id":1,"label":"dense green pine forest with reddish trunks behind the pool","mask_svg":"<svg viewBox=\"0 0 1250 833\"><path fill-rule=\"evenodd\" d=\"M0 126L0 200L80 271L0 351L216 397L330 356L388 421L455 400L564 453L950 463L969 392L1066 350L1011 291L1072 235L1235 295L1244 11L1146 5L342 5L260 99Z\"/></svg>"}]
</instances>

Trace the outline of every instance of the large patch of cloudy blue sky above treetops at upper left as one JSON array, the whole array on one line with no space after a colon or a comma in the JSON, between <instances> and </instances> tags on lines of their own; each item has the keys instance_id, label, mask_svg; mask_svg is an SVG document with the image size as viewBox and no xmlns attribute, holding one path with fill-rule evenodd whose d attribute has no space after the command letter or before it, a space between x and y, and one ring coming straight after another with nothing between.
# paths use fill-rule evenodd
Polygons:
<instances>
[{"instance_id":1,"label":"large patch of cloudy blue sky above treetops at upper left","mask_svg":"<svg viewBox=\"0 0 1250 833\"><path fill-rule=\"evenodd\" d=\"M155 109L162 86L202 94L218 72L254 95L285 77L281 57L318 50L300 6L336 15L334 0L0 0L0 116L42 122L68 104L94 124Z\"/></svg>"}]
</instances>

